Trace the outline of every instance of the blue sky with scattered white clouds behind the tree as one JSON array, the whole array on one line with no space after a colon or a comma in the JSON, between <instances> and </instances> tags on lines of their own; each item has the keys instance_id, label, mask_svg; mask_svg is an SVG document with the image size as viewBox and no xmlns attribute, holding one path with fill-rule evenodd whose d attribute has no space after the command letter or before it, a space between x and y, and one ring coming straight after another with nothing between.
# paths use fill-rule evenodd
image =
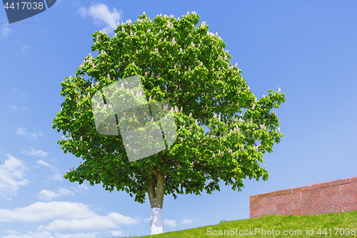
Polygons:
<instances>
[{"instance_id":1,"label":"blue sky with scattered white clouds behind the tree","mask_svg":"<svg viewBox=\"0 0 357 238\"><path fill-rule=\"evenodd\" d=\"M242 192L164 198L164 232L249 218L249 196L356 174L357 1L84 1L7 24L0 10L0 237L97 238L150 234L150 203L101 184L63 179L80 158L56 144L52 129L74 76L94 44L91 34L144 11L200 23L226 42L259 99L286 94L276 109L284 137L264 154L268 181L243 179Z\"/></svg>"}]
</instances>

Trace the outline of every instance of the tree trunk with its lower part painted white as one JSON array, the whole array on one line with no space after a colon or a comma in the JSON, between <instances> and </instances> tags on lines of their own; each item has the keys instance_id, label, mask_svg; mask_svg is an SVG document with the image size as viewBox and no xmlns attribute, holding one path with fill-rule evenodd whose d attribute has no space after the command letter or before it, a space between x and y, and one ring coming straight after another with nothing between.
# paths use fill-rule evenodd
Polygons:
<instances>
[{"instance_id":1,"label":"tree trunk with its lower part painted white","mask_svg":"<svg viewBox=\"0 0 357 238\"><path fill-rule=\"evenodd\" d=\"M163 233L162 204L164 203L165 175L157 172L149 179L148 194L151 204L150 229L151 234Z\"/></svg>"}]
</instances>

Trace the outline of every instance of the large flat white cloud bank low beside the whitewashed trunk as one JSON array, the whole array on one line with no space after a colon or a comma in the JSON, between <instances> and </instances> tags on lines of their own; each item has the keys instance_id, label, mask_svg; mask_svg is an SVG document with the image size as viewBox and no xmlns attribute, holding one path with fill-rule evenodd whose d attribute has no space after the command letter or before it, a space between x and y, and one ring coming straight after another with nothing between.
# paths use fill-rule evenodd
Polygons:
<instances>
[{"instance_id":1,"label":"large flat white cloud bank low beside the whitewashed trunk","mask_svg":"<svg viewBox=\"0 0 357 238\"><path fill-rule=\"evenodd\" d=\"M139 219L126 217L116 212L106 216L100 216L89 209L89 205L79 202L36 202L28 207L16 209L0 209L0 222L41 222L51 220L49 224L40 225L36 232L27 232L16 236L11 234L9 238L39 238L39 237L95 237L101 230L112 229L114 236L123 234L118 230L119 225L139 224ZM89 232L86 234L59 234L66 230L74 232ZM56 232L51 236L50 232ZM4 237L4 236L3 236ZM3 238L1 237L1 238ZM103 236L101 236L103 237Z\"/></svg>"}]
</instances>

